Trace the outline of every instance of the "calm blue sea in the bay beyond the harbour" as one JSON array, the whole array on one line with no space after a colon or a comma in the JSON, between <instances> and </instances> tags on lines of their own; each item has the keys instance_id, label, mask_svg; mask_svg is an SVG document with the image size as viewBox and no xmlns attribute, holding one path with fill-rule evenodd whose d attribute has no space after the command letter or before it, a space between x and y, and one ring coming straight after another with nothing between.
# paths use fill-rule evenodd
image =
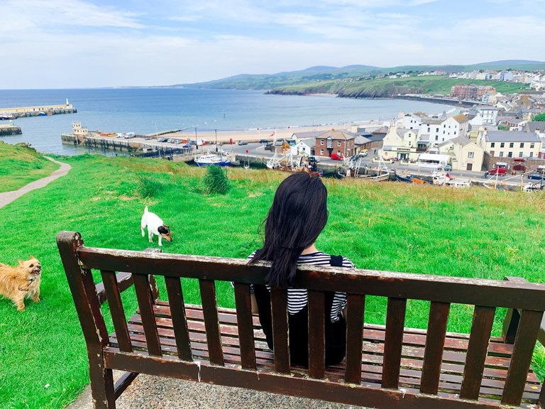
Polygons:
<instances>
[{"instance_id":1,"label":"calm blue sea in the bay beyond the harbour","mask_svg":"<svg viewBox=\"0 0 545 409\"><path fill-rule=\"evenodd\" d=\"M399 112L429 114L453 107L404 99L349 99L330 95L275 95L263 90L119 88L0 90L0 109L65 104L76 114L33 116L13 121L22 135L6 143L30 143L43 153L77 155L87 148L62 145L60 134L80 122L90 131L154 133L174 129L236 131L390 120ZM0 121L5 124L6 121Z\"/></svg>"}]
</instances>

